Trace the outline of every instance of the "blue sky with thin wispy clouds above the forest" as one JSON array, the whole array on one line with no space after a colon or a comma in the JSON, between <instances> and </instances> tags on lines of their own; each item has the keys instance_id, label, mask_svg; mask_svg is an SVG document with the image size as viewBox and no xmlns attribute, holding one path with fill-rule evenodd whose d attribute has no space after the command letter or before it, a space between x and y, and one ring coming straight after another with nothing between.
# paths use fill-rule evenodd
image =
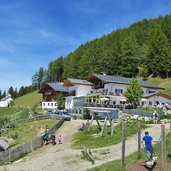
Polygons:
<instances>
[{"instance_id":1,"label":"blue sky with thin wispy clouds above the forest","mask_svg":"<svg viewBox=\"0 0 171 171\"><path fill-rule=\"evenodd\" d=\"M82 43L170 13L170 0L0 0L0 90L30 85Z\"/></svg>"}]
</instances>

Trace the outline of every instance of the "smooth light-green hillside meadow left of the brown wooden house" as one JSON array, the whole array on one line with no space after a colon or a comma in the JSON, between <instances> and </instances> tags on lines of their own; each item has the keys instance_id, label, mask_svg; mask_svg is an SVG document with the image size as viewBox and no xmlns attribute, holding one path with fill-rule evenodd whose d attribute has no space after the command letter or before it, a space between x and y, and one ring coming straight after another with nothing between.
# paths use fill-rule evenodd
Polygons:
<instances>
[{"instance_id":1,"label":"smooth light-green hillside meadow left of the brown wooden house","mask_svg":"<svg viewBox=\"0 0 171 171\"><path fill-rule=\"evenodd\" d=\"M14 107L22 106L24 108L34 107L42 100L42 95L38 91L26 94L24 96L18 97L14 100Z\"/></svg>"}]
</instances>

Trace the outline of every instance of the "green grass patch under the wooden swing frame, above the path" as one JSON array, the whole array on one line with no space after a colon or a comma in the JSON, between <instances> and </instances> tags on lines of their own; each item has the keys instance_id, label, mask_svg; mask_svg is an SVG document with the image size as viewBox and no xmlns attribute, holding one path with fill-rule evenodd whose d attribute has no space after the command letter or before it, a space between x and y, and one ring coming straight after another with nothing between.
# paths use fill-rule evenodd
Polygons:
<instances>
[{"instance_id":1,"label":"green grass patch under the wooden swing frame, above the path","mask_svg":"<svg viewBox=\"0 0 171 171\"><path fill-rule=\"evenodd\" d=\"M145 125L142 125L142 128L145 128ZM92 126L90 131L83 130L74 135L72 141L72 148L82 148L83 146L87 148L99 148L106 147L113 144L121 142L122 139L122 126L121 124L115 127L115 134L113 137L110 136L110 127L108 126L107 136L98 135L100 130L98 126ZM127 123L126 125L126 137L137 133L137 124Z\"/></svg>"}]
</instances>

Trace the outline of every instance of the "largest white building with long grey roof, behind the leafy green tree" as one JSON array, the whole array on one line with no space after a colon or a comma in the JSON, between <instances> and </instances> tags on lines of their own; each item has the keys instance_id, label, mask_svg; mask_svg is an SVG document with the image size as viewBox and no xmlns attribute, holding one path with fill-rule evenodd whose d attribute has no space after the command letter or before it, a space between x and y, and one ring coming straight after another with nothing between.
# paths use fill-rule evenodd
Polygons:
<instances>
[{"instance_id":1,"label":"largest white building with long grey roof, behind the leafy green tree","mask_svg":"<svg viewBox=\"0 0 171 171\"><path fill-rule=\"evenodd\" d=\"M120 105L126 102L124 93L130 85L131 78L92 74L88 80L94 84L94 90L96 90L96 92L100 92L105 95L105 97L109 98L111 104ZM159 93L159 90L162 89L146 81L138 80L138 83L142 87L144 96Z\"/></svg>"}]
</instances>

